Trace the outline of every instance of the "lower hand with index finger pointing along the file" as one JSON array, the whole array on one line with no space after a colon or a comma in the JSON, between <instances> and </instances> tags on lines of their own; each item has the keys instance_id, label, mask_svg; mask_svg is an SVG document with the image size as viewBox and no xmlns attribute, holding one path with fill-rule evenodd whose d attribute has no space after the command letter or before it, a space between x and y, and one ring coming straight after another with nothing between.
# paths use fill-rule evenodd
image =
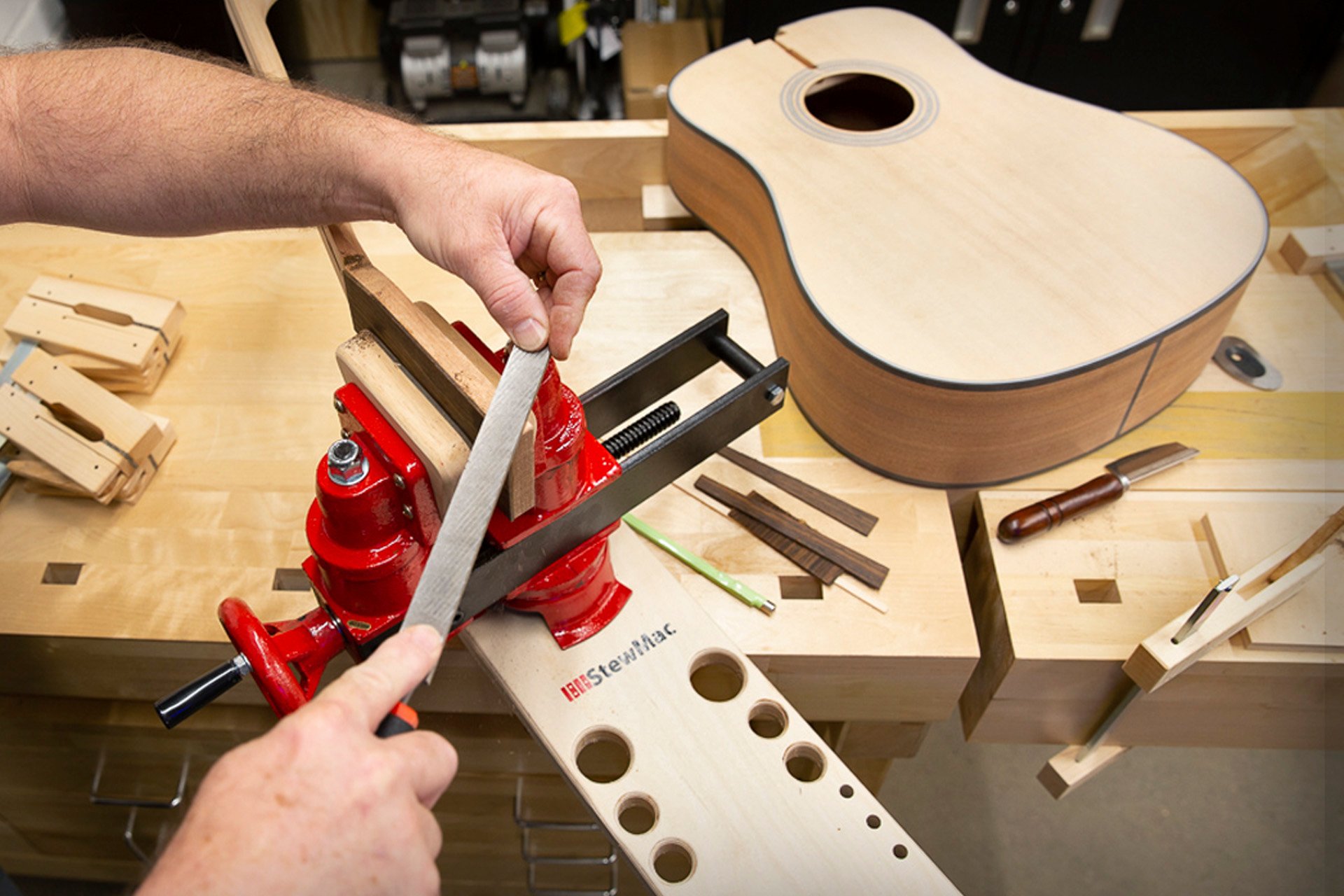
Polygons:
<instances>
[{"instance_id":1,"label":"lower hand with index finger pointing along the file","mask_svg":"<svg viewBox=\"0 0 1344 896\"><path fill-rule=\"evenodd\" d=\"M429 810L457 754L433 732L372 731L442 647L429 626L388 638L215 763L140 896L438 893L442 832Z\"/></svg>"}]
</instances>

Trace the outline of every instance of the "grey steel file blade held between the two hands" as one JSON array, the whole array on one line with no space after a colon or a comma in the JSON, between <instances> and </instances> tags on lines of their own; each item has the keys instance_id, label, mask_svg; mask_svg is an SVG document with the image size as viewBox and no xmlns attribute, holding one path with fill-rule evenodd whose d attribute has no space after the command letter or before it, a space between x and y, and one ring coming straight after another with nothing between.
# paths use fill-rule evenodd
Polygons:
<instances>
[{"instance_id":1,"label":"grey steel file blade held between the two hands","mask_svg":"<svg viewBox=\"0 0 1344 896\"><path fill-rule=\"evenodd\" d=\"M551 352L546 348L524 352L515 345L509 352L504 375L448 502L444 525L415 586L402 627L431 625L445 638L453 630L453 618L481 549L485 527L504 488L513 449L550 359Z\"/></svg>"}]
</instances>

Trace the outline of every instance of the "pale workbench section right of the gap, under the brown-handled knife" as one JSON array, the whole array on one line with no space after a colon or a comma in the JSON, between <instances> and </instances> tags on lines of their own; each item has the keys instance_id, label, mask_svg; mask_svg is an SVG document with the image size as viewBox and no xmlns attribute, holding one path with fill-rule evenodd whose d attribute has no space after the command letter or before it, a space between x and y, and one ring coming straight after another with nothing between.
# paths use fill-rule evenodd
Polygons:
<instances>
[{"instance_id":1,"label":"pale workbench section right of the gap, under the brown-handled knife","mask_svg":"<svg viewBox=\"0 0 1344 896\"><path fill-rule=\"evenodd\" d=\"M1210 363L1164 412L1091 457L958 496L982 653L961 701L974 740L1082 743L1128 685L1121 664L1137 642L1222 578L1215 544L1235 547L1228 571L1241 572L1344 504L1344 300L1325 275L1293 274L1278 251L1289 227L1344 220L1344 114L1149 117L1219 152L1265 200L1269 251L1227 332L1278 367L1284 386L1257 391ZM1167 441L1202 454L1038 540L993 539L1013 509ZM1314 587L1339 600L1339 580L1321 575ZM1265 649L1241 635L1137 701L1111 743L1339 748L1341 707L1344 652Z\"/></svg>"}]
</instances>

